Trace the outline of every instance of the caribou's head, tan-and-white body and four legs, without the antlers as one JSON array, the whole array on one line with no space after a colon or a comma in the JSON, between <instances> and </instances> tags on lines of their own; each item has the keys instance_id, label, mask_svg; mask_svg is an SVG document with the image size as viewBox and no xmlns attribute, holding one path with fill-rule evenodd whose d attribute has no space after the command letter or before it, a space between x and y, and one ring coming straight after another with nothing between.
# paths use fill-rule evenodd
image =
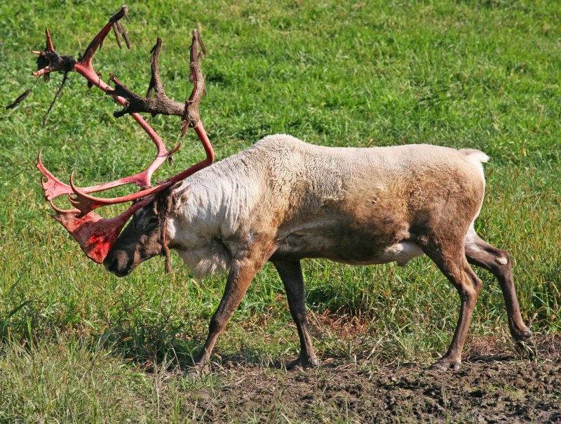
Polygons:
<instances>
[{"instance_id":1,"label":"caribou's head, tan-and-white body and four legs, without the antlers","mask_svg":"<svg viewBox=\"0 0 561 424\"><path fill-rule=\"evenodd\" d=\"M270 135L163 192L135 213L109 250L104 266L119 277L158 255L166 214L168 247L198 277L228 272L210 319L198 369L205 369L256 272L270 260L282 279L300 339L291 364L317 365L306 321L303 258L351 265L397 262L426 254L454 284L461 308L447 354L434 368L459 369L461 350L482 282L469 263L501 284L515 340L532 333L522 322L511 258L473 228L485 179L478 150L431 145L335 148Z\"/></svg>"}]
</instances>

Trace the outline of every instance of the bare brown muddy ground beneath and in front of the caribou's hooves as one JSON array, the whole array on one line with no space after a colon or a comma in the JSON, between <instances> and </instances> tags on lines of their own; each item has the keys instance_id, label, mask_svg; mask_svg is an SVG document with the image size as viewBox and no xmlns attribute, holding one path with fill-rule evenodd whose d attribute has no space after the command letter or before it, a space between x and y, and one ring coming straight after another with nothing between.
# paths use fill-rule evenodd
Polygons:
<instances>
[{"instance_id":1,"label":"bare brown muddy ground beneath and in front of the caribou's hooves","mask_svg":"<svg viewBox=\"0 0 561 424\"><path fill-rule=\"evenodd\" d=\"M560 347L541 343L534 361L468 352L447 373L342 359L306 371L229 362L212 371L221 384L186 400L203 422L561 423Z\"/></svg>"}]
</instances>

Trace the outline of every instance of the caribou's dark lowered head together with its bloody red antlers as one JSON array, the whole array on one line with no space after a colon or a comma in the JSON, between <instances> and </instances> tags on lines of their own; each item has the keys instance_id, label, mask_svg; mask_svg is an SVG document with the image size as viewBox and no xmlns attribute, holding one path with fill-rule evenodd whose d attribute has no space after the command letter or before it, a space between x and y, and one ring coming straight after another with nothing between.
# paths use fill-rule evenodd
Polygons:
<instances>
[{"instance_id":1,"label":"caribou's dark lowered head together with its bloody red antlers","mask_svg":"<svg viewBox=\"0 0 561 424\"><path fill-rule=\"evenodd\" d=\"M76 187L72 175L69 184L62 183L43 165L41 153L39 153L37 159L37 168L43 175L41 184L43 185L45 198L47 201L50 201L51 206L55 210L53 218L58 220L72 234L72 237L78 241L88 258L96 263L104 263L107 270L119 276L129 274L143 260L156 256L158 253L163 253L166 256L166 263L169 265L169 250L165 240L165 223L167 222L168 209L166 210L165 207L161 208L161 205L166 204L166 201L162 201L162 199L170 201L173 187L176 183L184 180L184 178L187 178L196 171L209 166L214 161L212 145L210 145L210 140L208 140L198 112L198 105L201 102L203 93L205 93L204 75L201 72L200 59L206 51L200 35L196 30L193 31L189 79L194 84L194 88L189 100L186 102L176 102L165 95L158 64L162 45L159 37L151 51L151 81L148 92L146 97L142 97L121 84L121 81L114 74L111 74L109 77L110 81L114 84L114 88L111 88L111 86L102 81L100 74L93 69L93 55L97 48L102 45L111 29L114 31L119 47L121 47L120 37L123 37L126 45L130 48L130 41L121 23L122 18L128 20L126 6L122 6L119 11L111 15L107 25L93 38L93 41L86 48L86 52L81 55L78 61L74 60L72 56L59 55L55 51L48 29L46 29L45 49L33 52L39 55L37 60L39 70L34 72L34 76L39 77L42 75L45 79L48 79L50 72L64 72L66 79L68 72L81 74L88 81L89 87L96 86L100 88L100 90L107 93L123 106L122 110L114 113L115 117L130 114L156 146L156 157L144 171L109 183L90 187ZM65 79L63 79L63 84ZM29 90L15 100L11 107L18 105L28 94ZM156 114L181 117L182 135L185 135L187 128L194 128L199 140L203 144L206 153L205 159L168 178L163 183L151 186L153 173L165 162L165 159L171 161L171 155L181 145L178 145L173 150L168 150L156 131L140 116L140 112L148 112L153 117ZM114 198L93 197L90 194L130 183L140 187L140 190L123 197ZM53 199L65 194L69 197L69 201L74 205L74 208L65 210L53 204ZM102 218L94 212L100 206L130 201L133 204L115 218ZM119 237L123 226L131 216L133 216L133 221ZM131 247L131 240L133 239L135 241L140 240L135 249Z\"/></svg>"}]
</instances>

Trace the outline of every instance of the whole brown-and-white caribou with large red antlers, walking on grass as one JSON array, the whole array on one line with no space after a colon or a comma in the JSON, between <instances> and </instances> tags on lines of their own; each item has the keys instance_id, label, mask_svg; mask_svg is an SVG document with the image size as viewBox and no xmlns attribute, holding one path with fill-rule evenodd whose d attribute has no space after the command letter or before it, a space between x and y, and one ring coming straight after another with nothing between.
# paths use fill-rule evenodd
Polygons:
<instances>
[{"instance_id":1,"label":"whole brown-and-white caribou with large red antlers, walking on grass","mask_svg":"<svg viewBox=\"0 0 561 424\"><path fill-rule=\"evenodd\" d=\"M68 194L76 206L61 210L53 205L55 219L79 241L89 258L103 263L110 272L126 276L144 260L160 254L169 264L169 249L175 249L198 277L228 273L195 370L208 369L219 333L268 260L280 274L298 330L300 355L292 366L318 364L306 322L302 258L352 265L394 261L405 265L423 254L431 258L454 284L461 300L450 348L433 365L439 371L459 369L461 364L461 350L482 287L470 263L489 270L499 280L513 338L521 344L531 338L520 315L509 254L483 241L473 227L485 190L482 163L488 158L484 153L433 145L320 147L290 135L270 135L248 150L212 164L212 147L198 117L204 91L200 37L194 32L194 90L189 101L175 102L163 91L158 69L160 39L151 56L149 94L142 98L114 76L115 88L110 88L92 67L93 54L111 28L117 37L126 34L120 22L124 16L124 7L111 16L78 62L55 53L47 32L45 50L36 52L41 69L35 74L75 71L86 77L90 85L124 106L116 116L130 114L147 132L157 147L156 159L136 175L82 188L74 185L72 177L70 185L61 183L40 157L37 166L43 174L46 199ZM16 102L20 100L21 96ZM182 117L183 129L195 129L206 158L151 187L152 173L176 149L166 150L138 112ZM127 183L136 183L141 190L112 199L88 194ZM101 218L93 212L99 206L125 201L134 203L117 218Z\"/></svg>"}]
</instances>

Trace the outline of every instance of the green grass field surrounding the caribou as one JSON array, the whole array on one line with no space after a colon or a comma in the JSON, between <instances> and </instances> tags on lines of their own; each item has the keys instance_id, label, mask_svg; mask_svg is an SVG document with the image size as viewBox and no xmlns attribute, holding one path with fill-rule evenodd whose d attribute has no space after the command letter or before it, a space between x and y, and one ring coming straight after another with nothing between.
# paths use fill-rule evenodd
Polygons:
<instances>
[{"instance_id":1,"label":"green grass field surrounding the caribou","mask_svg":"<svg viewBox=\"0 0 561 424\"><path fill-rule=\"evenodd\" d=\"M0 4L0 105L33 84L35 58L29 51L43 48L45 25L57 51L77 55L119 6ZM128 6L133 48L121 51L108 38L95 57L97 71L104 79L115 72L143 93L149 50L161 36L166 92L187 99L190 34L198 28L209 53L203 60L208 97L201 116L218 158L279 132L320 145L433 143L489 154L487 196L476 230L511 252L522 315L549 346L538 364L513 361L512 366L553 363L559 369L558 2L145 1ZM182 370L204 342L224 278L196 281L173 256L168 275L155 258L117 279L83 256L48 218L34 168L40 149L50 171L62 179L76 171L81 185L136 173L154 154L130 117L115 119L114 103L100 91L88 91L77 74L69 74L41 128L60 81L62 75L49 84L39 81L18 109L0 114L0 422L367 420L357 403L335 402L315 378L342 378L349 369L360 378L380 369L397 370L399 376L403 366L427 366L445 352L459 298L430 260L419 258L403 269L307 260L315 347L326 369L337 366L304 376L283 369L297 355L298 337L280 279L268 266L219 338L215 372L200 380L184 378ZM180 141L179 119L149 121L169 147ZM159 178L203 158L194 134L182 143L173 166L163 166ZM118 209L101 213L111 216ZM478 274L485 285L466 355L473 349L515 356L499 286L490 274ZM426 416L401 409L393 418L475 420L469 412L448 415L457 413L447 409L445 381L451 376L442 379L442 390L437 384L444 409ZM258 380L264 387L259 393L267 393L263 402L250 390ZM286 387L302 381L318 390L313 402L297 393L297 402L283 397ZM244 390L256 396L245 406L238 401ZM518 395L512 402L527 395L513 393ZM555 403L561 404L558 391L547 399L555 412Z\"/></svg>"}]
</instances>

